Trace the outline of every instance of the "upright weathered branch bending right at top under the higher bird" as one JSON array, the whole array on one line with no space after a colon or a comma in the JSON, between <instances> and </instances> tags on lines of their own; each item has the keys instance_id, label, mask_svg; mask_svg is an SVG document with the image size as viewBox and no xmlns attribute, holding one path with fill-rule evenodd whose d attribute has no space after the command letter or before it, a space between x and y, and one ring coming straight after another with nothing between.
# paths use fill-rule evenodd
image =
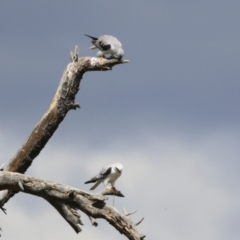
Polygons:
<instances>
[{"instance_id":1,"label":"upright weathered branch bending right at top under the higher bird","mask_svg":"<svg viewBox=\"0 0 240 240\"><path fill-rule=\"evenodd\" d=\"M33 129L27 141L10 160L6 171L25 173L32 161L38 156L48 140L52 137L59 124L71 109L80 107L75 103L83 74L88 71L111 70L117 64L127 63L128 60L106 59L95 57L78 57L78 47L71 52L71 63L63 72L57 92L47 112ZM12 191L1 192L0 208L12 197Z\"/></svg>"}]
</instances>

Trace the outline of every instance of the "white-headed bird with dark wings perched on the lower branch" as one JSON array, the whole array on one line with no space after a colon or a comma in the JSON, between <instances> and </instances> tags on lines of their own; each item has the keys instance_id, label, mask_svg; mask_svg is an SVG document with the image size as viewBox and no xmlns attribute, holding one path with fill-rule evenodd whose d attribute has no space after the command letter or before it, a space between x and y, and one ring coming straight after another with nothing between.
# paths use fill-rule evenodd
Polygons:
<instances>
[{"instance_id":1,"label":"white-headed bird with dark wings perched on the lower branch","mask_svg":"<svg viewBox=\"0 0 240 240\"><path fill-rule=\"evenodd\" d=\"M111 185L111 190L116 190L114 187L115 181L121 176L123 165L121 163L114 163L102 168L102 170L95 177L91 178L87 183L95 183L90 190L94 190L101 182L104 183L105 188Z\"/></svg>"}]
</instances>

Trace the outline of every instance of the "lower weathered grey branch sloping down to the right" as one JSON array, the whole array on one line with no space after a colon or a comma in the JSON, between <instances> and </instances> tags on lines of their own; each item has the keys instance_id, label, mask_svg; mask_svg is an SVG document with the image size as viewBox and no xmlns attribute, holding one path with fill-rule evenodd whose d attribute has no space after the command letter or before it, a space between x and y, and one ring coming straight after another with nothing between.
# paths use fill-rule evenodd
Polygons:
<instances>
[{"instance_id":1,"label":"lower weathered grey branch sloping down to the right","mask_svg":"<svg viewBox=\"0 0 240 240\"><path fill-rule=\"evenodd\" d=\"M136 224L128 217L129 214L126 210L124 214L121 214L113 206L107 205L105 203L106 197L103 195L91 194L70 186L19 173L1 171L0 190L3 189L11 189L13 192L22 191L44 198L58 211L60 209L60 214L76 232L81 231L79 224L82 224L77 212L78 209L89 216L94 226L97 226L96 218L103 218L128 239L143 240L145 238L138 232ZM107 191L104 194L107 195Z\"/></svg>"}]
</instances>

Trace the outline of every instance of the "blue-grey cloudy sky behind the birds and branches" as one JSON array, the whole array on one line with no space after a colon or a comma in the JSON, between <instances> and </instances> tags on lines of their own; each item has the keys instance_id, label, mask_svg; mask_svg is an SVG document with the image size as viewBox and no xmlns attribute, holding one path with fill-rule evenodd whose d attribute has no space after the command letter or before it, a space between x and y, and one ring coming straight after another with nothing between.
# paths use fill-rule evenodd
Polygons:
<instances>
[{"instance_id":1,"label":"blue-grey cloudy sky behind the birds and branches","mask_svg":"<svg viewBox=\"0 0 240 240\"><path fill-rule=\"evenodd\" d=\"M121 162L119 210L138 210L146 239L240 237L240 2L3 1L0 152L8 162L53 99L70 51L96 56L84 34L116 36L124 59L84 74L76 102L27 175L88 191ZM103 188L101 185L96 189ZM113 204L109 197L108 204ZM76 234L46 201L15 195L2 239L126 239L81 213Z\"/></svg>"}]
</instances>

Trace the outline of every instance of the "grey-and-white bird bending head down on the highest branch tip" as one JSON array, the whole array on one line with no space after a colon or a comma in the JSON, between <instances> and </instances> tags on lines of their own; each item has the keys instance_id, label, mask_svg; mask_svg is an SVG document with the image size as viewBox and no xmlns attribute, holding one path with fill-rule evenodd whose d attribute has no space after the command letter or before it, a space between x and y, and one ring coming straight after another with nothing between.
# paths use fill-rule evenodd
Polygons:
<instances>
[{"instance_id":1,"label":"grey-and-white bird bending head down on the highest branch tip","mask_svg":"<svg viewBox=\"0 0 240 240\"><path fill-rule=\"evenodd\" d=\"M124 51L122 49L122 44L117 40L117 38L110 35L103 35L99 38L89 36L84 34L87 37L92 39L92 44L94 46L90 49L98 48L100 51L97 53L98 57L105 57L105 54L110 54L111 57L122 59Z\"/></svg>"}]
</instances>

